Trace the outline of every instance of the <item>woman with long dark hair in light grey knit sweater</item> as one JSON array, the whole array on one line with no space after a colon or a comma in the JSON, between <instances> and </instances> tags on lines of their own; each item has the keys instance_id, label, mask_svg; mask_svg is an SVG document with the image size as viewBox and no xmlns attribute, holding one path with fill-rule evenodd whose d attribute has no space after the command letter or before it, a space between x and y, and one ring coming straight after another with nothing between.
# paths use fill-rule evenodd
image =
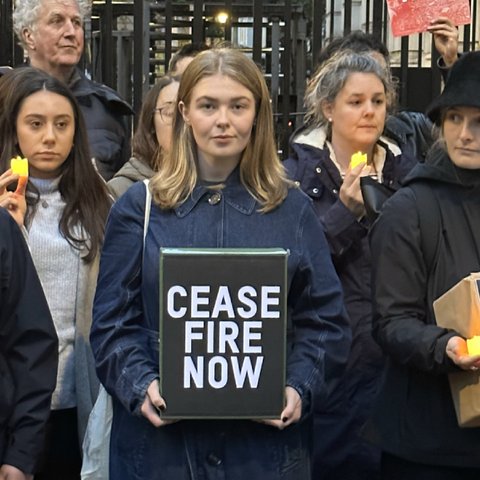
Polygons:
<instances>
[{"instance_id":1,"label":"woman with long dark hair in light grey knit sweater","mask_svg":"<svg viewBox=\"0 0 480 480\"><path fill-rule=\"evenodd\" d=\"M59 337L59 370L38 479L77 479L88 414L98 391L88 334L110 199L85 124L67 86L31 67L0 79L0 204L28 238ZM26 188L10 159L28 159Z\"/></svg>"}]
</instances>

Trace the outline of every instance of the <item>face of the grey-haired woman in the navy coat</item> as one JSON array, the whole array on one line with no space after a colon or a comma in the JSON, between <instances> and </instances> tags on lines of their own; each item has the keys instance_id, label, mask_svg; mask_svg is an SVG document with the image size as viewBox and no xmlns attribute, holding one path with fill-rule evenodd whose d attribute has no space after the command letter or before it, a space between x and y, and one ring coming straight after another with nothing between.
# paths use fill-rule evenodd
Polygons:
<instances>
[{"instance_id":1,"label":"face of the grey-haired woman in the navy coat","mask_svg":"<svg viewBox=\"0 0 480 480\"><path fill-rule=\"evenodd\" d=\"M387 115L385 87L373 73L355 72L331 104L323 107L331 119L332 142L369 151L383 132Z\"/></svg>"}]
</instances>

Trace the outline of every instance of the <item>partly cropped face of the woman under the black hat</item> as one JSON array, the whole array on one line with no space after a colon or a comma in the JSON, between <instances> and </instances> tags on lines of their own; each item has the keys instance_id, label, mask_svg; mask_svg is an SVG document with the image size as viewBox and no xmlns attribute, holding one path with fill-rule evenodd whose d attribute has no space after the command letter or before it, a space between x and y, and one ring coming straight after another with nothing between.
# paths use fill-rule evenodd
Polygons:
<instances>
[{"instance_id":1,"label":"partly cropped face of the woman under the black hat","mask_svg":"<svg viewBox=\"0 0 480 480\"><path fill-rule=\"evenodd\" d=\"M460 168L480 168L480 108L454 107L443 120L443 137L452 162Z\"/></svg>"}]
</instances>

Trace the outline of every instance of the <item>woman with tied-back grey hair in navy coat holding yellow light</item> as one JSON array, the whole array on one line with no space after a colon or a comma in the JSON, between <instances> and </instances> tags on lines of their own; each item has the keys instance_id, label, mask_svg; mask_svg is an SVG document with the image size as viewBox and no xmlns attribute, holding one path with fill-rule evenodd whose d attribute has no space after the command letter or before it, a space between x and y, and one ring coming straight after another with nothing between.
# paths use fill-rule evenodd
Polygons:
<instances>
[{"instance_id":1,"label":"woman with tied-back grey hair in navy coat holding yellow light","mask_svg":"<svg viewBox=\"0 0 480 480\"><path fill-rule=\"evenodd\" d=\"M285 164L314 203L345 293L352 327L346 372L326 402L314 405L313 477L375 479L379 451L360 431L375 398L383 356L371 335L370 250L360 188L362 176L398 188L416 163L382 136L395 91L388 69L369 54L343 51L319 67L305 96L305 126L291 141ZM366 163L351 165L361 152ZM363 157L362 155L362 157Z\"/></svg>"}]
</instances>

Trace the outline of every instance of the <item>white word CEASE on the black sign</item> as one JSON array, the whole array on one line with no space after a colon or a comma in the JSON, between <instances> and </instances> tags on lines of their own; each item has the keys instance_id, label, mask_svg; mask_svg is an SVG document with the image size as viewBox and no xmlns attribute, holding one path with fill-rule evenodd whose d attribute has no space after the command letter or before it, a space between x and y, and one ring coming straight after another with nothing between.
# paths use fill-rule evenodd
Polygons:
<instances>
[{"instance_id":1,"label":"white word CEASE on the black sign","mask_svg":"<svg viewBox=\"0 0 480 480\"><path fill-rule=\"evenodd\" d=\"M213 295L211 295L213 293ZM210 298L212 296L212 298ZM187 289L174 285L167 291L167 312L172 318L280 318L280 287L262 286L260 291L251 285L240 287L232 295L227 285L211 292L210 285L192 285Z\"/></svg>"}]
</instances>

